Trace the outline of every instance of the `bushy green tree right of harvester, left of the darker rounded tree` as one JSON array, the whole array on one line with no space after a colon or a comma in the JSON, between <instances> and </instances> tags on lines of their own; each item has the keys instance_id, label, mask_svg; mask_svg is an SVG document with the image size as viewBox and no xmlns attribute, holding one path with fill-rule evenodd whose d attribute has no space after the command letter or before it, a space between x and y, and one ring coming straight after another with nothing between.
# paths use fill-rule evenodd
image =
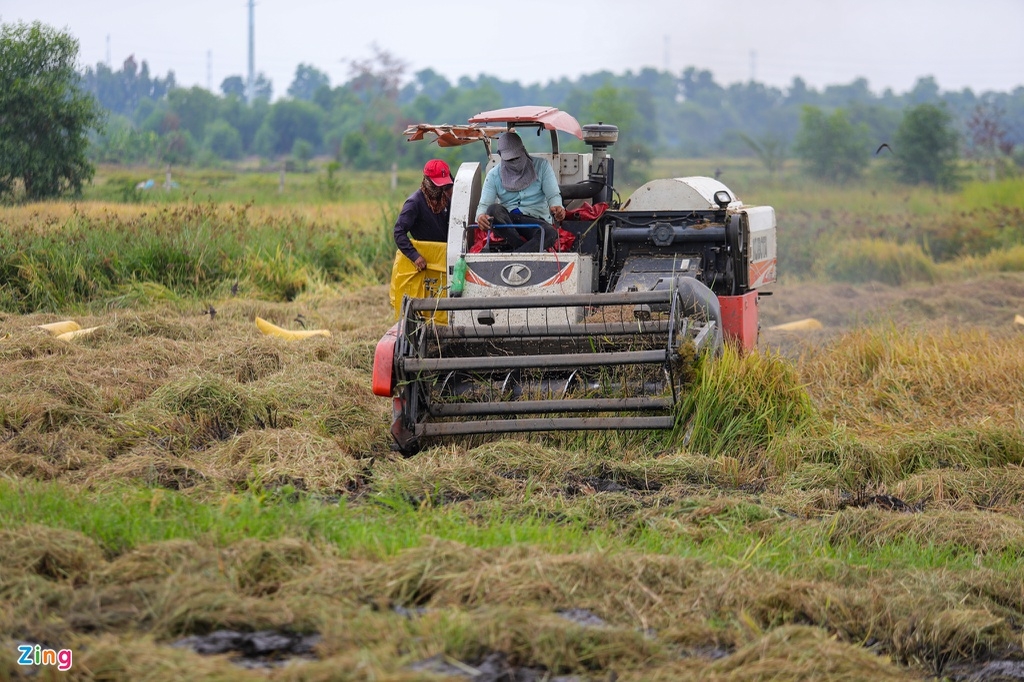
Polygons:
<instances>
[{"instance_id":1,"label":"bushy green tree right of harvester, left of the darker rounded tree","mask_svg":"<svg viewBox=\"0 0 1024 682\"><path fill-rule=\"evenodd\" d=\"M869 147L867 126L850 123L843 110L830 116L817 106L801 111L794 152L814 177L837 183L860 177L870 160Z\"/></svg>"}]
</instances>

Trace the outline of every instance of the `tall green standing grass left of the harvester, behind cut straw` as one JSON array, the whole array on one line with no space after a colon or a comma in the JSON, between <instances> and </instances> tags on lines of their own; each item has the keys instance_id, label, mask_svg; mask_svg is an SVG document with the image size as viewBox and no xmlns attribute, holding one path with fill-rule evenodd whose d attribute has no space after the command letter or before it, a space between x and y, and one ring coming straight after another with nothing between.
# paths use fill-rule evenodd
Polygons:
<instances>
[{"instance_id":1,"label":"tall green standing grass left of the harvester, behind cut straw","mask_svg":"<svg viewBox=\"0 0 1024 682\"><path fill-rule=\"evenodd\" d=\"M241 283L250 295L287 301L314 282L381 283L394 254L394 215L382 206L362 220L214 204L76 209L53 225L0 216L0 308L68 310L120 300L139 285L195 299Z\"/></svg>"}]
</instances>

